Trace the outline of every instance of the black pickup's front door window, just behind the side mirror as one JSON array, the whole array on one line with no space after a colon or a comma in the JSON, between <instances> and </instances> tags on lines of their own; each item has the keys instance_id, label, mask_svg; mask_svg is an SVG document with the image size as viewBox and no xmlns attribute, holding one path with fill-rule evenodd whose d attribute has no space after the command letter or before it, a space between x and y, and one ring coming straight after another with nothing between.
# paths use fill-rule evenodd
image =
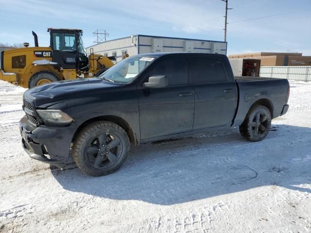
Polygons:
<instances>
[{"instance_id":1,"label":"black pickup's front door window, just behind the side mirror","mask_svg":"<svg viewBox=\"0 0 311 233\"><path fill-rule=\"evenodd\" d=\"M170 57L157 64L150 72L153 75L166 75L169 85L188 83L187 60L182 57Z\"/></svg>"}]
</instances>

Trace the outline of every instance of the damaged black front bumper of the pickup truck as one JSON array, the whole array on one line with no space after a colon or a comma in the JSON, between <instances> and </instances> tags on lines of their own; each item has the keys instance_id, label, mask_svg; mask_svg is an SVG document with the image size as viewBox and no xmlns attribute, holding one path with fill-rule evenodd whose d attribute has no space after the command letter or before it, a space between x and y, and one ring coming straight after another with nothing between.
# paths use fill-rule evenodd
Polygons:
<instances>
[{"instance_id":1,"label":"damaged black front bumper of the pickup truck","mask_svg":"<svg viewBox=\"0 0 311 233\"><path fill-rule=\"evenodd\" d=\"M71 132L74 132L72 127L39 126L27 130L27 118L24 116L19 122L19 129L22 147L31 158L60 168L68 164Z\"/></svg>"}]
</instances>

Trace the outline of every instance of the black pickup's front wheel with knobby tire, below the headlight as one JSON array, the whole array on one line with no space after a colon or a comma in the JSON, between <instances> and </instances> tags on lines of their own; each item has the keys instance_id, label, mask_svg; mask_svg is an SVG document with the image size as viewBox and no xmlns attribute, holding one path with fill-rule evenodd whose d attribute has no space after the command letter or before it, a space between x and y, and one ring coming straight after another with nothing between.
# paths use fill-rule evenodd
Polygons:
<instances>
[{"instance_id":1,"label":"black pickup's front wheel with knobby tire, below the headlight","mask_svg":"<svg viewBox=\"0 0 311 233\"><path fill-rule=\"evenodd\" d=\"M119 169L129 150L130 140L121 126L110 121L96 121L78 133L72 156L86 174L103 176Z\"/></svg>"}]
</instances>

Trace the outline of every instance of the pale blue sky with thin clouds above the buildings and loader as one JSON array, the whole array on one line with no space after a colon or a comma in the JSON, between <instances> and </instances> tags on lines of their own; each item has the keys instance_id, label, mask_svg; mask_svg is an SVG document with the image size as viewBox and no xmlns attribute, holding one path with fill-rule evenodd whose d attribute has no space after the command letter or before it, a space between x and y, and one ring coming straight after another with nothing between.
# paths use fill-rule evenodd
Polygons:
<instances>
[{"instance_id":1,"label":"pale blue sky with thin clouds above the buildings and loader","mask_svg":"<svg viewBox=\"0 0 311 233\"><path fill-rule=\"evenodd\" d=\"M228 11L227 54L311 55L311 0L229 0L228 7L234 9ZM0 42L33 46L33 30L39 46L48 46L48 27L82 29L85 46L93 44L96 29L107 30L108 39L149 34L223 40L224 15L221 0L0 0Z\"/></svg>"}]
</instances>

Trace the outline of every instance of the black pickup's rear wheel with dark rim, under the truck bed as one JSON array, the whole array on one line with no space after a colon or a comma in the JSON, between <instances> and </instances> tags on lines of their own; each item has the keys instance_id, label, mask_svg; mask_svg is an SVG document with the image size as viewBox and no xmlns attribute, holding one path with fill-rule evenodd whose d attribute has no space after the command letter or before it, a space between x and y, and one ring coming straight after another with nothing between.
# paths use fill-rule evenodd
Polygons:
<instances>
[{"instance_id":1,"label":"black pickup's rear wheel with dark rim, under the truck bed","mask_svg":"<svg viewBox=\"0 0 311 233\"><path fill-rule=\"evenodd\" d=\"M239 128L244 138L252 142L258 142L267 136L270 127L270 110L265 106L255 105L249 110Z\"/></svg>"}]
</instances>

